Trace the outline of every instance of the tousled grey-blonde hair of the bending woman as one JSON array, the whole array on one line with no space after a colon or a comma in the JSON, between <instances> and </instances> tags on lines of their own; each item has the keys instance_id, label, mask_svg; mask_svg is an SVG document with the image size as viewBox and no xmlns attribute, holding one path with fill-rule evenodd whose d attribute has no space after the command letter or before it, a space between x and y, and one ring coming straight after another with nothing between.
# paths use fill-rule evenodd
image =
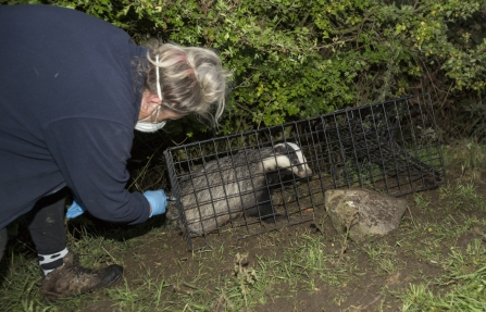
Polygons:
<instances>
[{"instance_id":1,"label":"tousled grey-blonde hair of the bending woman","mask_svg":"<svg viewBox=\"0 0 486 312\"><path fill-rule=\"evenodd\" d=\"M159 67L162 105L183 115L196 113L217 125L225 107L226 79L230 74L223 68L215 52L164 43L150 47L147 59L145 88L157 95Z\"/></svg>"}]
</instances>

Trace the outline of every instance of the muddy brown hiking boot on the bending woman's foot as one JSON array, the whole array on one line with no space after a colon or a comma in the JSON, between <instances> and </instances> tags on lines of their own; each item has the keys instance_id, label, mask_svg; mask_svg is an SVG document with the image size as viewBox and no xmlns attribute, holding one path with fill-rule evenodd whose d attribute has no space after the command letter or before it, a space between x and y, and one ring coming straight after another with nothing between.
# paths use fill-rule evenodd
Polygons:
<instances>
[{"instance_id":1,"label":"muddy brown hiking boot on the bending woman's foot","mask_svg":"<svg viewBox=\"0 0 486 312\"><path fill-rule=\"evenodd\" d=\"M63 261L64 265L49 273L41 282L48 301L108 287L120 282L123 276L123 267L116 264L100 270L82 267L72 252Z\"/></svg>"}]
</instances>

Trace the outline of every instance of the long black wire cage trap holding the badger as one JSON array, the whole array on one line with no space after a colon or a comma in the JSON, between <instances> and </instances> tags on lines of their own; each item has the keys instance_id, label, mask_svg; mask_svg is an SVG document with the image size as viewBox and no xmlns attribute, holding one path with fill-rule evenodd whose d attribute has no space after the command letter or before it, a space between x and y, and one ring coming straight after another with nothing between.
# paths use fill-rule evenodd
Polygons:
<instances>
[{"instance_id":1,"label":"long black wire cage trap holding the badger","mask_svg":"<svg viewBox=\"0 0 486 312\"><path fill-rule=\"evenodd\" d=\"M446 182L428 93L170 148L178 223L192 250L313 220L324 191L403 196Z\"/></svg>"}]
</instances>

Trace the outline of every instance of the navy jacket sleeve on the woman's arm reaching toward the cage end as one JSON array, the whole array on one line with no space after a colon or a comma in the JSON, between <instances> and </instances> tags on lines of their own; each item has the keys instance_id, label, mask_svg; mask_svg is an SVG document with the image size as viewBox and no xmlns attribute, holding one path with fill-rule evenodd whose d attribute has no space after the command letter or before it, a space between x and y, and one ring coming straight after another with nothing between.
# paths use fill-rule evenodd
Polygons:
<instances>
[{"instance_id":1,"label":"navy jacket sleeve on the woman's arm reaching toward the cage end","mask_svg":"<svg viewBox=\"0 0 486 312\"><path fill-rule=\"evenodd\" d=\"M149 219L144 195L125 189L133 128L113 121L71 117L50 123L45 136L67 186L89 213L129 224Z\"/></svg>"}]
</instances>

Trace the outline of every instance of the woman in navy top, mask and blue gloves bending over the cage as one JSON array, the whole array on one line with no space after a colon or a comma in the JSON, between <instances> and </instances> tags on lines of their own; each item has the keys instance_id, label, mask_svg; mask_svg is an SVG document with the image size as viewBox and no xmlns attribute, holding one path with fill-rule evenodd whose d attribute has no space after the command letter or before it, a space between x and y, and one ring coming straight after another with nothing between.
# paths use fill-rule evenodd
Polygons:
<instances>
[{"instance_id":1,"label":"woman in navy top, mask and blue gloves bending over the cage","mask_svg":"<svg viewBox=\"0 0 486 312\"><path fill-rule=\"evenodd\" d=\"M26 214L57 299L112 285L123 270L80 267L66 249L66 188L94 216L137 224L164 213L163 190L125 189L134 128L188 114L221 116L226 77L208 49L138 47L115 26L49 5L0 7L0 259L5 227Z\"/></svg>"}]
</instances>

